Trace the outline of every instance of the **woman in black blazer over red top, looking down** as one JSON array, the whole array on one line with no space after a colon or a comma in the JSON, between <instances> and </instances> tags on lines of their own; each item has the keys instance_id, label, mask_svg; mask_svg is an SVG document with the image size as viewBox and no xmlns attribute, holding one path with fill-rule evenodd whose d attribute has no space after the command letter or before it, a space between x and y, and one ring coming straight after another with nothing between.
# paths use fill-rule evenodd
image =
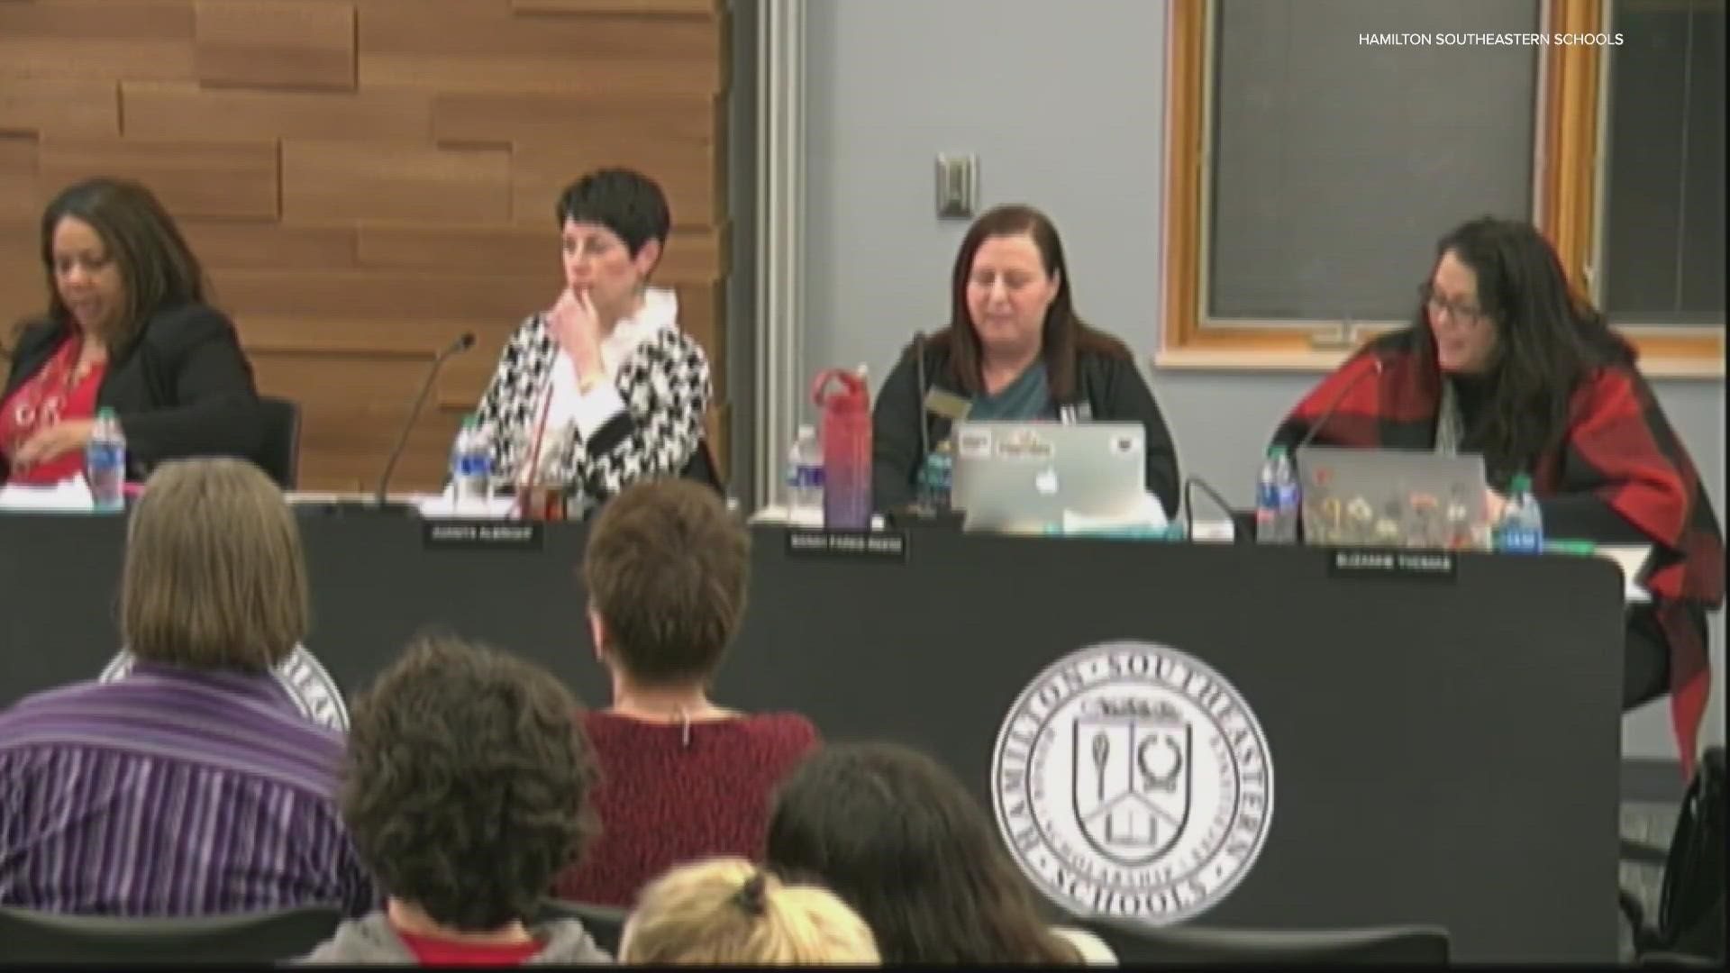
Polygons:
<instances>
[{"instance_id":1,"label":"woman in black blazer over red top, looking down","mask_svg":"<svg viewBox=\"0 0 1730 973\"><path fill-rule=\"evenodd\" d=\"M128 480L166 459L258 454L253 367L149 189L114 178L64 189L42 216L42 263L48 312L21 324L0 391L0 481L81 473L104 407L126 435Z\"/></svg>"}]
</instances>

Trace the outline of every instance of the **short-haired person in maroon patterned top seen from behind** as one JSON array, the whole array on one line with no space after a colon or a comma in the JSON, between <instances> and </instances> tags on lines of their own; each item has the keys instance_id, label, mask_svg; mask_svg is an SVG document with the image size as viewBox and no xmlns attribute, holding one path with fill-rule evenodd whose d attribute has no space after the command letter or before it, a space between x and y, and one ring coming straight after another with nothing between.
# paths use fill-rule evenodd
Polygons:
<instances>
[{"instance_id":1,"label":"short-haired person in maroon patterned top seen from behind","mask_svg":"<svg viewBox=\"0 0 1730 973\"><path fill-rule=\"evenodd\" d=\"M708 689L744 616L751 535L685 480L628 486L583 554L595 656L612 705L583 715L600 762L600 838L559 899L630 905L671 866L758 859L775 784L817 746L798 713L740 713Z\"/></svg>"}]
</instances>

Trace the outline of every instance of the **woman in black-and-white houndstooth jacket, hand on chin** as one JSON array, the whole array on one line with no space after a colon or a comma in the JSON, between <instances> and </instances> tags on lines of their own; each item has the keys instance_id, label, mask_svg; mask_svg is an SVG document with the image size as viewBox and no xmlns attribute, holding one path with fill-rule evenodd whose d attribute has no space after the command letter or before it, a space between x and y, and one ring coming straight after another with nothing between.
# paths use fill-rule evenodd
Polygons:
<instances>
[{"instance_id":1,"label":"woman in black-and-white houndstooth jacket, hand on chin","mask_svg":"<svg viewBox=\"0 0 1730 973\"><path fill-rule=\"evenodd\" d=\"M573 519L638 480L718 488L702 441L708 355L678 329L673 291L647 286L671 227L661 187L597 170L554 215L566 289L517 327L477 409L495 478L561 488Z\"/></svg>"}]
</instances>

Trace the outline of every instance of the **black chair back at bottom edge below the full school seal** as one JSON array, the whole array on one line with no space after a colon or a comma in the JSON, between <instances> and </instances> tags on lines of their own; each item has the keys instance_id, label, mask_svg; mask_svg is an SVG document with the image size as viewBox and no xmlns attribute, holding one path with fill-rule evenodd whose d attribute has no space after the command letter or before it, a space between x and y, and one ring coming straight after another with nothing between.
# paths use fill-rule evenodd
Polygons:
<instances>
[{"instance_id":1,"label":"black chair back at bottom edge below the full school seal","mask_svg":"<svg viewBox=\"0 0 1730 973\"><path fill-rule=\"evenodd\" d=\"M1195 964L1438 964L1448 963L1448 931L1439 926L1363 926L1348 930L1154 928L1126 919L1067 919L1105 940L1123 966Z\"/></svg>"}]
</instances>

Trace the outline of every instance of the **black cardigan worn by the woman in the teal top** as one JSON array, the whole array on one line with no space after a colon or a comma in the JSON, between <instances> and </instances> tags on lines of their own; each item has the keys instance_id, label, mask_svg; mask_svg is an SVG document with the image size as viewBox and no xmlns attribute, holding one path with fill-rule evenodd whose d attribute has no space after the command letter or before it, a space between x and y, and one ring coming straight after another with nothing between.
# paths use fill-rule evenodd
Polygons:
<instances>
[{"instance_id":1,"label":"black cardigan worn by the woman in the teal top","mask_svg":"<svg viewBox=\"0 0 1730 973\"><path fill-rule=\"evenodd\" d=\"M889 371L872 410L872 506L889 511L915 499L920 455L919 422L927 424L927 441L936 447L950 435L950 421L926 410L926 393L941 388L967 396L950 374L946 341L924 343L926 388L919 388L913 351L908 350ZM1076 353L1076 391L1073 402L1086 403L1088 419L1097 422L1140 422L1147 429L1147 490L1159 497L1166 516L1178 509L1178 454L1159 414L1154 393L1142 381L1135 358L1109 351Z\"/></svg>"}]
</instances>

